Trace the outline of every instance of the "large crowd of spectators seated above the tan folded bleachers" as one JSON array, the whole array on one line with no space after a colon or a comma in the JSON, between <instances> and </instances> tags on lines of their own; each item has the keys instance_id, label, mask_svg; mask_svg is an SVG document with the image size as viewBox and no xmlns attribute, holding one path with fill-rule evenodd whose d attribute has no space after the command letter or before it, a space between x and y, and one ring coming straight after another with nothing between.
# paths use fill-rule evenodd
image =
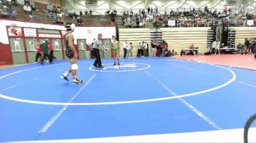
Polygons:
<instances>
[{"instance_id":1,"label":"large crowd of spectators seated above the tan folded bleachers","mask_svg":"<svg viewBox=\"0 0 256 143\"><path fill-rule=\"evenodd\" d=\"M122 20L126 28L143 27L146 25L146 21L152 22L155 27L207 27L217 24L218 20L228 20L230 26L246 26L246 20L254 20L256 24L255 15L246 13L239 8L225 7L222 11L217 11L217 9L210 10L206 6L204 9L194 8L183 12L173 11L173 9L167 12L167 8L165 8L164 12L164 14L161 13L157 6L138 9L138 12L128 9L122 11ZM172 25L171 21L175 21L175 23Z\"/></svg>"}]
</instances>

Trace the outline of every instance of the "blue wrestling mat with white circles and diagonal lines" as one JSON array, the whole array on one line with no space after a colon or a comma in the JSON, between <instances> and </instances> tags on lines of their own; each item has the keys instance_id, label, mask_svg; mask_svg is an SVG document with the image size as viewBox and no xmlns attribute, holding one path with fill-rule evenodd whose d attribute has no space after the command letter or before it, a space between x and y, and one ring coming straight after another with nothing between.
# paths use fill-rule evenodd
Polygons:
<instances>
[{"instance_id":1,"label":"blue wrestling mat with white circles and diagonal lines","mask_svg":"<svg viewBox=\"0 0 256 143\"><path fill-rule=\"evenodd\" d=\"M0 69L0 142L89 139L244 128L256 72L174 58L80 60Z\"/></svg>"}]
</instances>

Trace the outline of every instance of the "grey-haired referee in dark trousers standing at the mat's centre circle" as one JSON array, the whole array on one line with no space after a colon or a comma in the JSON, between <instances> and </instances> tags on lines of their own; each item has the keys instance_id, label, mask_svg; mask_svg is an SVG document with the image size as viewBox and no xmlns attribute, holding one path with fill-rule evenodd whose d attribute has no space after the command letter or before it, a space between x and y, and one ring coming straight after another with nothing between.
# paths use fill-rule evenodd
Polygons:
<instances>
[{"instance_id":1,"label":"grey-haired referee in dark trousers standing at the mat's centre circle","mask_svg":"<svg viewBox=\"0 0 256 143\"><path fill-rule=\"evenodd\" d=\"M98 38L94 40L94 45L92 46L92 51L95 55L96 60L94 61L94 66L99 68L104 68L102 66L102 60L99 55L99 49L108 50L105 46L102 45L102 34L98 34Z\"/></svg>"}]
</instances>

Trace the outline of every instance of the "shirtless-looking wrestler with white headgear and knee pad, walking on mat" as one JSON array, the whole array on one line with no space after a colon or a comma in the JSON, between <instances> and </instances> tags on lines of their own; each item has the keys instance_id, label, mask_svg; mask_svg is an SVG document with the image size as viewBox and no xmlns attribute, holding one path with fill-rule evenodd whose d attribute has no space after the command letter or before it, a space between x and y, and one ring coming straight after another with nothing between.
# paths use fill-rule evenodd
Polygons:
<instances>
[{"instance_id":1,"label":"shirtless-looking wrestler with white headgear and knee pad, walking on mat","mask_svg":"<svg viewBox=\"0 0 256 143\"><path fill-rule=\"evenodd\" d=\"M65 28L67 28L67 33L64 34L64 46L66 48L66 56L69 58L71 67L61 75L61 77L64 80L67 80L67 77L69 76L70 72L72 73L72 79L73 79L73 84L78 85L83 82L83 80L78 80L77 77L77 70L78 70L78 63L77 63L77 58L78 58L78 53L75 50L74 47L74 36L72 34L73 31L75 31L75 24L74 23L67 23Z\"/></svg>"}]
</instances>

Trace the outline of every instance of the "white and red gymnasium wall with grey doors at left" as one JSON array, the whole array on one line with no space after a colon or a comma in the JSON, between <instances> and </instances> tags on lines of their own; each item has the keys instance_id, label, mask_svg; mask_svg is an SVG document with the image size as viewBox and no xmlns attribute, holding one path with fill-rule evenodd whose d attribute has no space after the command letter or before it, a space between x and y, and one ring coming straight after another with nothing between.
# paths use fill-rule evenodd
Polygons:
<instances>
[{"instance_id":1,"label":"white and red gymnasium wall with grey doors at left","mask_svg":"<svg viewBox=\"0 0 256 143\"><path fill-rule=\"evenodd\" d=\"M65 30L64 26L59 25L0 19L0 63L20 64L34 62L34 55L37 53L36 43L42 44L45 40L53 43L55 55L58 59L65 59L64 47L61 44L63 41L63 36L61 35L65 33ZM77 27L73 34L79 58L91 58L90 51L86 51L88 50L86 45L94 42L98 34L102 34L103 39L111 39L112 36L116 36L116 27ZM106 42L104 43L106 44Z\"/></svg>"}]
</instances>

